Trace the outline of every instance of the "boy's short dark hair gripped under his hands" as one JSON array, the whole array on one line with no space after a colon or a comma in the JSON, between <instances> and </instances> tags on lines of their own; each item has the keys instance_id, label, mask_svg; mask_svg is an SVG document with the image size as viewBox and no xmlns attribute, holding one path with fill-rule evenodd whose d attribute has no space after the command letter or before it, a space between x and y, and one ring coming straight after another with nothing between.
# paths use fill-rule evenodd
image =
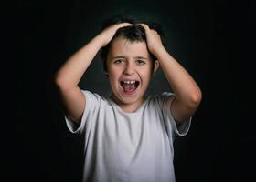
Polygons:
<instances>
[{"instance_id":1,"label":"boy's short dark hair gripped under his hands","mask_svg":"<svg viewBox=\"0 0 256 182\"><path fill-rule=\"evenodd\" d=\"M103 30L110 25L120 24L120 23L124 23L124 22L130 23L133 25L124 26L122 28L119 28L116 31L115 35L112 37L112 41L117 37L123 37L124 39L127 39L131 42L146 42L146 35L145 35L144 27L141 25L138 25L140 23L149 25L149 27L152 29L155 29L159 35L164 35L163 31L161 29L161 26L159 24L146 23L144 21L135 20L131 17L127 17L127 16L123 16L123 15L113 16L112 18L105 20L101 26L101 29ZM107 71L106 60L107 60L107 56L109 53L109 49L112 45L112 41L108 45L101 48L100 57L101 57L101 60L103 61L104 71ZM155 61L156 57L151 53L150 53L150 55L151 55L152 59Z\"/></svg>"}]
</instances>

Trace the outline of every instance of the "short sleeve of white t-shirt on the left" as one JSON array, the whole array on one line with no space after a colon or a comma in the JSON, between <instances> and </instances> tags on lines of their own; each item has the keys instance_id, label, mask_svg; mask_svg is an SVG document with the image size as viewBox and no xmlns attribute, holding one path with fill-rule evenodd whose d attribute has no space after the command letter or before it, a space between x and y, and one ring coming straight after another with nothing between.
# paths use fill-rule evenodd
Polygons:
<instances>
[{"instance_id":1,"label":"short sleeve of white t-shirt on the left","mask_svg":"<svg viewBox=\"0 0 256 182\"><path fill-rule=\"evenodd\" d=\"M86 127L91 125L93 121L93 117L98 111L99 103L101 100L101 96L97 94L92 94L87 90L81 90L85 96L86 104L81 116L80 126L77 125L74 121L72 121L68 116L64 115L66 124L69 128L69 131L75 134L81 134L85 131Z\"/></svg>"}]
</instances>

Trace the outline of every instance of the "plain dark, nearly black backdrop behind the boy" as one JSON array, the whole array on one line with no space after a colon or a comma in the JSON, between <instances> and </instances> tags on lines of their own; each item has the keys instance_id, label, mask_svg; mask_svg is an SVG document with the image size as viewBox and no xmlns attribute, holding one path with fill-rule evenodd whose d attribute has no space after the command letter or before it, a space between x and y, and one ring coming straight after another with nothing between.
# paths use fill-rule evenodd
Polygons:
<instances>
[{"instance_id":1,"label":"plain dark, nearly black backdrop behind the boy","mask_svg":"<svg viewBox=\"0 0 256 182\"><path fill-rule=\"evenodd\" d=\"M82 140L64 122L52 76L111 15L161 23L165 47L202 89L189 133L175 142L176 181L255 178L255 1L20 0L10 7L6 47L14 60L8 71L15 72L11 83L16 86L16 109L3 121L8 123L3 128L5 181L80 181ZM99 56L80 86L109 94ZM148 94L166 90L159 70Z\"/></svg>"}]
</instances>

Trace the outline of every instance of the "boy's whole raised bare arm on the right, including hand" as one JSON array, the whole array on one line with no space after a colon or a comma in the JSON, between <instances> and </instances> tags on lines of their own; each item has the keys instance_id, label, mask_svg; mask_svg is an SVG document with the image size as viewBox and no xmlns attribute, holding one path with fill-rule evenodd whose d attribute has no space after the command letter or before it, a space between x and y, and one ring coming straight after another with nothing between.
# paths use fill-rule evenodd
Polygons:
<instances>
[{"instance_id":1,"label":"boy's whole raised bare arm on the right, including hand","mask_svg":"<svg viewBox=\"0 0 256 182\"><path fill-rule=\"evenodd\" d=\"M193 116L200 104L202 93L196 81L174 57L170 56L155 30L144 25L149 51L157 57L159 64L173 88L176 97L171 105L171 112L177 123Z\"/></svg>"}]
</instances>

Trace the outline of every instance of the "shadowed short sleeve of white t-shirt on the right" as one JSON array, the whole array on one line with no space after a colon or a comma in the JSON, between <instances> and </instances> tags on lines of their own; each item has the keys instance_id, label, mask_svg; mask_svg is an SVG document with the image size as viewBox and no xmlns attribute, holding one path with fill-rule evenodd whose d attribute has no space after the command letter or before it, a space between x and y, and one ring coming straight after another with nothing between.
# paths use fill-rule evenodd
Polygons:
<instances>
[{"instance_id":1,"label":"shadowed short sleeve of white t-shirt on the right","mask_svg":"<svg viewBox=\"0 0 256 182\"><path fill-rule=\"evenodd\" d=\"M161 95L162 97L162 110L164 112L164 118L165 118L165 126L167 127L168 133L172 133L172 135L177 136L186 136L187 132L191 125L191 119L190 117L187 121L183 122L180 125L176 125L175 118L173 117L171 113L170 106L172 104L172 101L174 100L175 95L173 93L163 93Z\"/></svg>"}]
</instances>

